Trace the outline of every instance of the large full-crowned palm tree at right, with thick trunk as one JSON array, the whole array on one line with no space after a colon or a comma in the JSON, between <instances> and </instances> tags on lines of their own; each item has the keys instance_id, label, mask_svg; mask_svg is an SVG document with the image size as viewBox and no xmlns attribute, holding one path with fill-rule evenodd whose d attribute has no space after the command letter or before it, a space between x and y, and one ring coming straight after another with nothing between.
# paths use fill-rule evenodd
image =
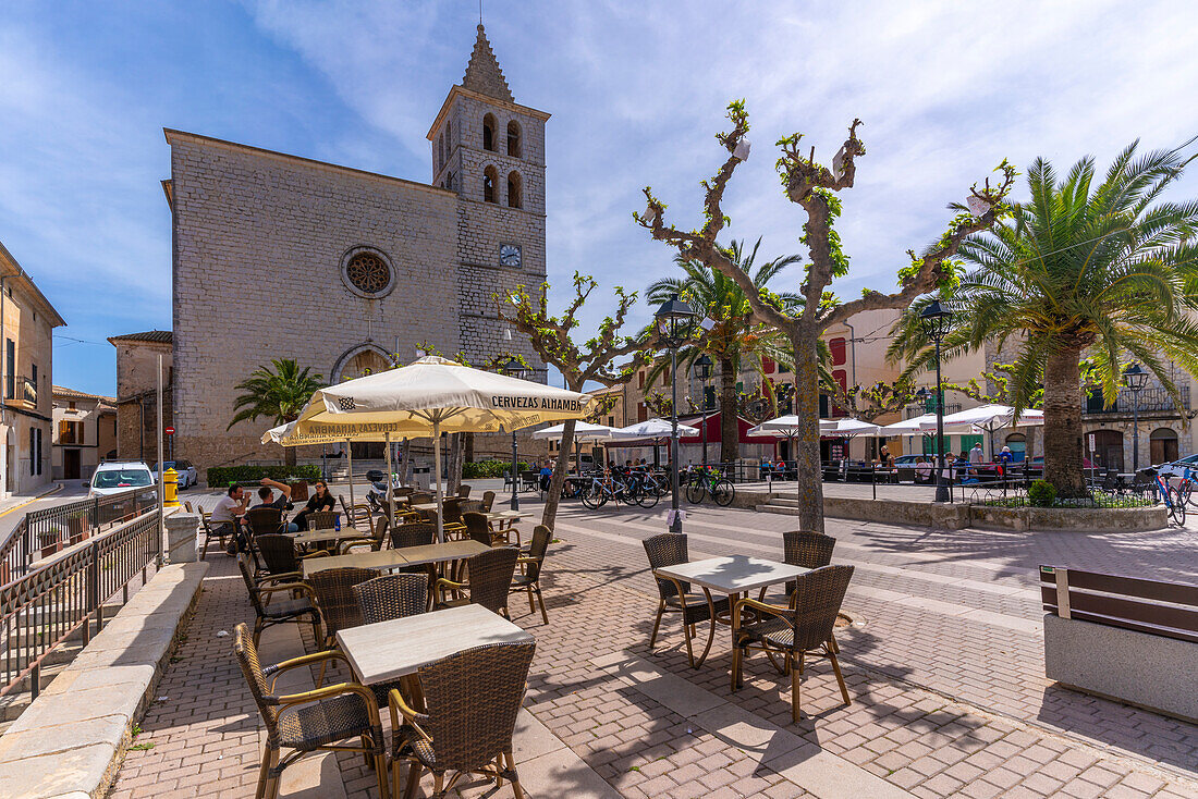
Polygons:
<instances>
[{"instance_id":1,"label":"large full-crowned palm tree at right, with thick trunk","mask_svg":"<svg viewBox=\"0 0 1198 799\"><path fill-rule=\"evenodd\" d=\"M1190 311L1198 290L1198 202L1160 201L1188 163L1178 150L1137 157L1126 147L1095 186L1094 159L1077 162L1058 181L1043 158L1028 172L1031 199L1016 205L993 232L966 240L968 271L942 293L956 314L946 355L987 341L1017 350L1009 400L1027 407L1043 386L1045 476L1059 496L1088 496L1082 470L1079 363L1108 406L1118 395L1125 356L1143 363L1179 401L1166 358L1198 369L1198 325ZM900 322L893 359L930 363L915 303ZM1179 405L1180 407L1180 405Z\"/></svg>"}]
</instances>

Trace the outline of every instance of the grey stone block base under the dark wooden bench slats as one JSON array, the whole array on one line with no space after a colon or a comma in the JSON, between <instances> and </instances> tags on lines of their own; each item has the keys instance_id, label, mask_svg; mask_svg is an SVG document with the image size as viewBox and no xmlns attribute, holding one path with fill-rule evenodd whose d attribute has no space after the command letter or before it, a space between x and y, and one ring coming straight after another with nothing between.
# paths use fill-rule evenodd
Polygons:
<instances>
[{"instance_id":1,"label":"grey stone block base under the dark wooden bench slats","mask_svg":"<svg viewBox=\"0 0 1198 799\"><path fill-rule=\"evenodd\" d=\"M1198 722L1198 643L1045 613L1045 674Z\"/></svg>"}]
</instances>

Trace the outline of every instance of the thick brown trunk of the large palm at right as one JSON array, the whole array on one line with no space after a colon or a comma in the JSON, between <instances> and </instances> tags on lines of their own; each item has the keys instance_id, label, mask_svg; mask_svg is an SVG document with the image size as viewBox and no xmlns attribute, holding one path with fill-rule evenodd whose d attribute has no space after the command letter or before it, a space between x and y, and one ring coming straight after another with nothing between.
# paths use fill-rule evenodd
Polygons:
<instances>
[{"instance_id":1,"label":"thick brown trunk of the large palm at right","mask_svg":"<svg viewBox=\"0 0 1198 799\"><path fill-rule=\"evenodd\" d=\"M1079 349L1064 349L1045 363L1045 479L1057 496L1088 497L1082 468Z\"/></svg>"}]
</instances>

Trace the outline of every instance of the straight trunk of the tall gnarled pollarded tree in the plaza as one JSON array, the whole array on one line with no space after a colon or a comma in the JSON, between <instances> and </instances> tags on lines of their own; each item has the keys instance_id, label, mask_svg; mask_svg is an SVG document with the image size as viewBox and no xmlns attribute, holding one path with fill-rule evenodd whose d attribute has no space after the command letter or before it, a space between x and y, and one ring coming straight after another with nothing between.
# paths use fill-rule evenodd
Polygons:
<instances>
[{"instance_id":1,"label":"straight trunk of the tall gnarled pollarded tree in the plaza","mask_svg":"<svg viewBox=\"0 0 1198 799\"><path fill-rule=\"evenodd\" d=\"M791 335L794 347L794 412L799 417L794 438L794 460L798 468L799 529L824 532L823 467L819 464L819 331L800 326Z\"/></svg>"}]
</instances>

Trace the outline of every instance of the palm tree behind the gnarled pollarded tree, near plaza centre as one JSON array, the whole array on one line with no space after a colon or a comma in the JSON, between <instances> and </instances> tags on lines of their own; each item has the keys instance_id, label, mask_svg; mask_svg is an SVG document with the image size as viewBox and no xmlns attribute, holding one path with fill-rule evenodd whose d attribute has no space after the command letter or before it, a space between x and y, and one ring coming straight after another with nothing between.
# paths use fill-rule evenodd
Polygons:
<instances>
[{"instance_id":1,"label":"palm tree behind the gnarled pollarded tree, near plaza centre","mask_svg":"<svg viewBox=\"0 0 1198 799\"><path fill-rule=\"evenodd\" d=\"M728 259L745 274L752 278L758 290L766 291L767 284L782 270L798 264L798 255L783 255L767 261L755 270L757 249L761 238L745 250L743 241L733 240L724 249ZM700 335L692 343L678 350L679 374L689 374L695 359L704 352L720 367L720 460L731 461L739 456L739 431L737 430L737 376L742 365L751 364L761 371L762 357L768 357L781 364L793 361L787 355L786 337L778 331L751 321L752 309L744 291L722 272L712 270L701 261L676 256L674 264L686 273L685 278L662 278L654 282L646 297L649 303L665 302L671 293L685 297L698 311L715 322L712 329L700 329ZM775 295L779 307L794 310L801 307L803 299L795 293ZM662 375L667 362L654 364L648 374L648 383ZM707 401L707 398L703 398Z\"/></svg>"}]
</instances>

